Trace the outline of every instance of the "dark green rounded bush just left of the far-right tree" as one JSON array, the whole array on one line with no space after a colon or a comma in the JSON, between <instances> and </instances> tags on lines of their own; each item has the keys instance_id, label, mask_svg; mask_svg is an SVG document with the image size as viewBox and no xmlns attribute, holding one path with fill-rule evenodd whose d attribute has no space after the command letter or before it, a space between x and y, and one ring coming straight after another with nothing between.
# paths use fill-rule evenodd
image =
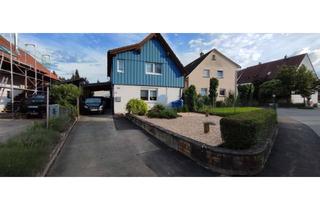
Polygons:
<instances>
[{"instance_id":1,"label":"dark green rounded bush just left of the far-right tree","mask_svg":"<svg viewBox=\"0 0 320 210\"><path fill-rule=\"evenodd\" d=\"M272 99L272 95L279 96L282 93L282 82L279 79L266 81L260 85L259 98L262 101Z\"/></svg>"}]
</instances>

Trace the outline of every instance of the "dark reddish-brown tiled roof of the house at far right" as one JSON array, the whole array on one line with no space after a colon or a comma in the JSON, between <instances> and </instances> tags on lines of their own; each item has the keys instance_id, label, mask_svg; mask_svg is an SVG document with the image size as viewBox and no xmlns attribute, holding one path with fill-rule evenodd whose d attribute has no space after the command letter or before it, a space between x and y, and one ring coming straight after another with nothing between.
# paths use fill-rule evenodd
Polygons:
<instances>
[{"instance_id":1,"label":"dark reddish-brown tiled roof of the house at far right","mask_svg":"<svg viewBox=\"0 0 320 210\"><path fill-rule=\"evenodd\" d=\"M279 67L282 65L298 67L306 55L307 54L301 54L285 57L283 59L247 67L238 71L238 84L252 83L255 81L263 82L274 79L279 73Z\"/></svg>"}]
</instances>

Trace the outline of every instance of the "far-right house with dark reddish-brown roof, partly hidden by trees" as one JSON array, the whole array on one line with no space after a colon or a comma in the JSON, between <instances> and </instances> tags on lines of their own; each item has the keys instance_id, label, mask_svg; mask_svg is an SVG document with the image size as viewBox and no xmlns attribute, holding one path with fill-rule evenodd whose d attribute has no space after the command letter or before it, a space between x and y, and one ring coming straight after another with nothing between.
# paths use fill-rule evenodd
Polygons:
<instances>
[{"instance_id":1,"label":"far-right house with dark reddish-brown roof, partly hidden by trees","mask_svg":"<svg viewBox=\"0 0 320 210\"><path fill-rule=\"evenodd\" d=\"M280 71L282 65L296 66L300 67L304 65L307 69L314 72L317 77L317 73L312 65L312 62L307 53L287 57L282 59L270 61L267 63L259 63L258 65L247 67L238 72L238 85L243 84L253 84L253 83L263 83L268 80L275 79ZM317 77L318 78L318 77ZM303 103L303 98L299 94L291 94L291 103ZM318 92L316 91L311 96L311 101L313 103L318 103Z\"/></svg>"}]
</instances>

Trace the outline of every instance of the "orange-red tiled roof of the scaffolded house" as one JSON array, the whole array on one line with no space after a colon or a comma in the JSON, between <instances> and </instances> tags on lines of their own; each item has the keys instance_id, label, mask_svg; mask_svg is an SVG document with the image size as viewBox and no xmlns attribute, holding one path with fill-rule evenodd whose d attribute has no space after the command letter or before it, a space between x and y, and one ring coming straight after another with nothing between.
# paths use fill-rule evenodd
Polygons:
<instances>
[{"instance_id":1,"label":"orange-red tiled roof of the scaffolded house","mask_svg":"<svg viewBox=\"0 0 320 210\"><path fill-rule=\"evenodd\" d=\"M1 35L0 35L0 46L8 49L10 52L10 42ZM34 68L35 58L33 56L31 56L30 54L28 54L27 52L25 52L20 48L18 49L19 50L19 53L18 53L14 45L12 46L12 48L13 48L12 52L14 55L13 56L14 61L18 61L20 63L31 66L32 69ZM10 59L10 55L8 53L3 53L3 55L4 57ZM37 64L37 71L42 72L47 77L51 77L51 79L55 79L55 80L58 79L58 76L56 74L53 74L53 73L50 74L50 70L47 69L44 65L42 65L37 60L36 60L36 64Z\"/></svg>"}]
</instances>

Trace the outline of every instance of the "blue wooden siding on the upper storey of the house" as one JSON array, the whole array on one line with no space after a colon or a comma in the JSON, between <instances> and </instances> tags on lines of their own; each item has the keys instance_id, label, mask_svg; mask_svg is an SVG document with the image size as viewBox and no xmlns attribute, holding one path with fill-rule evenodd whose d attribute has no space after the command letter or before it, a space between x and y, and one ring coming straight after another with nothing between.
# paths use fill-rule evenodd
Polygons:
<instances>
[{"instance_id":1,"label":"blue wooden siding on the upper storey of the house","mask_svg":"<svg viewBox=\"0 0 320 210\"><path fill-rule=\"evenodd\" d=\"M124 73L117 72L118 59L124 60ZM161 63L162 74L146 74L146 62ZM127 51L113 57L112 83L122 85L183 87L184 77L177 65L167 56L160 42L156 39L151 39L144 44L140 53Z\"/></svg>"}]
</instances>

